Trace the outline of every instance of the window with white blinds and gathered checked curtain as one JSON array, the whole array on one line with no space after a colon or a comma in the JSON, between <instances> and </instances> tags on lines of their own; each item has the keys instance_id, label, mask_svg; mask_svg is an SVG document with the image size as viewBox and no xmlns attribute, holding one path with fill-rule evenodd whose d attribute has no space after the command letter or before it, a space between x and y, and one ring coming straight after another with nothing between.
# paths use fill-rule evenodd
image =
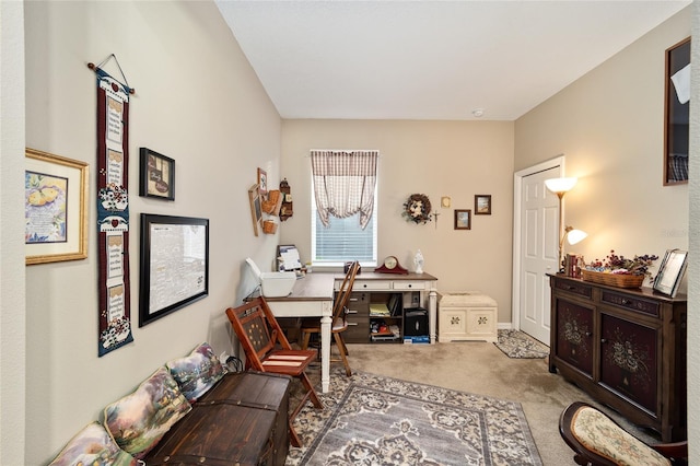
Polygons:
<instances>
[{"instance_id":1,"label":"window with white blinds and gathered checked curtain","mask_svg":"<svg viewBox=\"0 0 700 466\"><path fill-rule=\"evenodd\" d=\"M378 151L311 151L312 261L376 264Z\"/></svg>"}]
</instances>

